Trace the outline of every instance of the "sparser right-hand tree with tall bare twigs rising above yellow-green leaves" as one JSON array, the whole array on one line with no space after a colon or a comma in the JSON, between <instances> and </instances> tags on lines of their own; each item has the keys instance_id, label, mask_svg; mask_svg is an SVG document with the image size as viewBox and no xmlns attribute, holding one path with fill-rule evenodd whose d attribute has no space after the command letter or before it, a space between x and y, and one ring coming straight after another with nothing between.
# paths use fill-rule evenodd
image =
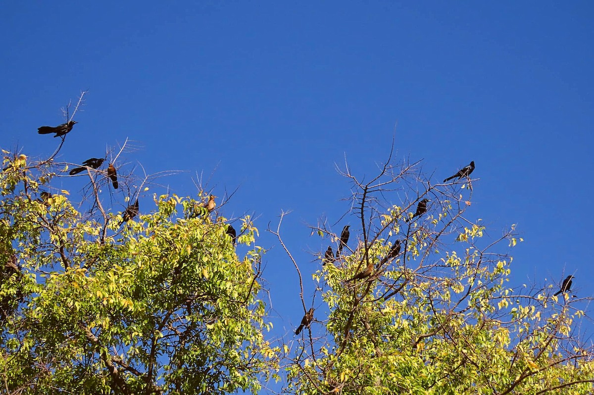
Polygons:
<instances>
[{"instance_id":1,"label":"sparser right-hand tree with tall bare twigs rising above yellow-green leaves","mask_svg":"<svg viewBox=\"0 0 594 395\"><path fill-rule=\"evenodd\" d=\"M286 393L592 394L594 349L574 330L591 298L506 287L512 259L497 250L522 239L512 227L485 241L465 215L472 181L432 184L419 165L390 158L366 182L342 171L358 240L351 231L334 265L313 274L321 302L302 301L316 305L317 324L298 337ZM338 243L327 221L312 230ZM280 223L273 232L283 243Z\"/></svg>"}]
</instances>

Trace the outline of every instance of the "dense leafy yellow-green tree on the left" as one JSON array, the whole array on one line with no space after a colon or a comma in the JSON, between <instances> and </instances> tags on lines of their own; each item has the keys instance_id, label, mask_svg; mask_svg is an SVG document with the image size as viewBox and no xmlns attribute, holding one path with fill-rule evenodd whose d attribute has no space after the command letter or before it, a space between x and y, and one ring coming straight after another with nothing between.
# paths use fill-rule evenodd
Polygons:
<instances>
[{"instance_id":1,"label":"dense leafy yellow-green tree on the left","mask_svg":"<svg viewBox=\"0 0 594 395\"><path fill-rule=\"evenodd\" d=\"M121 224L122 214L105 206L105 169L84 173L89 185L77 208L68 191L44 190L67 170L55 154L31 162L3 152L5 393L257 393L274 375L259 296L263 251L239 259L226 218L197 212L190 198L155 195L154 208L142 201L140 215ZM126 177L136 191L129 203L147 178ZM257 228L249 216L241 222L238 242L249 246Z\"/></svg>"}]
</instances>

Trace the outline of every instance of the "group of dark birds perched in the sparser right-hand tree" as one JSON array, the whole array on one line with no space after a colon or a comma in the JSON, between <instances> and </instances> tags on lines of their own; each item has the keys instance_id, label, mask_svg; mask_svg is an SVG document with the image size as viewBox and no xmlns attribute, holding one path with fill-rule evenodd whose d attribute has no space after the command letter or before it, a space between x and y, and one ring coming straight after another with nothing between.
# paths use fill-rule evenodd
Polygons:
<instances>
[{"instance_id":1,"label":"group of dark birds perched in the sparser right-hand tree","mask_svg":"<svg viewBox=\"0 0 594 395\"><path fill-rule=\"evenodd\" d=\"M444 183L447 181L450 181L452 179L455 179L456 177L459 180L462 179L463 177L468 178L474 170L475 170L475 161L471 161L469 165L460 169L453 176L445 179ZM431 200L426 199L426 198L420 200L418 205L416 206L415 214L410 219L406 219L406 221L407 222L412 221L412 219L416 218L417 216L421 216L421 215L425 214L425 212L427 211L427 203L428 202L431 202ZM350 225L346 225L343 228L342 232L340 233L340 242L339 242L339 246L336 250L336 257L334 257L332 246L328 246L328 249L326 250L326 253L324 254L323 265L328 265L328 264L334 263L334 261L336 259L340 258L340 253L342 253L343 247L345 247L346 243L348 243L348 241L349 241L349 237L350 237L349 227L350 227ZM386 263L388 260L395 258L400 253L401 249L402 249L402 246L400 245L400 240L396 240L394 242L394 245L390 248L390 251L388 251L388 254L381 260L380 265L383 265L383 263ZM373 272L374 272L374 263L370 261L369 264L365 267L365 269L363 269L361 272L357 273L356 275L352 276L351 278L347 279L345 282L348 283L351 281L366 279L369 276L371 276L371 274ZM567 276L567 278L565 278L563 280L563 283L561 283L561 289L555 294L555 296L562 294L564 292L570 291L571 283L572 283L571 280L573 278L574 278L573 276ZM311 324L311 321L313 319L314 319L314 308L312 307L307 311L307 313L305 313L305 316L301 320L301 324L299 324L299 327L297 328L297 330L295 330L295 335L299 335L299 333L301 333L301 330L304 327L309 327L309 324Z\"/></svg>"}]
</instances>

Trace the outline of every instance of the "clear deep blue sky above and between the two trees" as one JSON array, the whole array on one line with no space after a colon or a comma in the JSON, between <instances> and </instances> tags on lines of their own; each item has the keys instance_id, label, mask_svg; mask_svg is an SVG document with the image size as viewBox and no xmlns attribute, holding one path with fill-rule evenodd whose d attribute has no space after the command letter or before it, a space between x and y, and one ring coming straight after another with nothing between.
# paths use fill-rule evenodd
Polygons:
<instances>
[{"instance_id":1,"label":"clear deep blue sky above and between the two trees","mask_svg":"<svg viewBox=\"0 0 594 395\"><path fill-rule=\"evenodd\" d=\"M303 311L268 223L292 211L283 238L311 299L311 253L328 240L308 224L350 224L352 240L361 228L334 224L350 193L335 163L375 174L394 133L397 158L423 159L434 183L475 161L468 217L493 238L517 224L525 239L512 286L573 273L574 293L594 294L594 3L122 3L0 4L1 146L51 154L58 139L37 128L64 122L60 107L89 89L58 160L129 138L139 149L121 173L185 170L160 179L182 196L196 195L197 173L217 196L239 188L220 214L257 216L274 336L292 336ZM163 191L141 195L140 211ZM125 207L121 191L113 206Z\"/></svg>"}]
</instances>

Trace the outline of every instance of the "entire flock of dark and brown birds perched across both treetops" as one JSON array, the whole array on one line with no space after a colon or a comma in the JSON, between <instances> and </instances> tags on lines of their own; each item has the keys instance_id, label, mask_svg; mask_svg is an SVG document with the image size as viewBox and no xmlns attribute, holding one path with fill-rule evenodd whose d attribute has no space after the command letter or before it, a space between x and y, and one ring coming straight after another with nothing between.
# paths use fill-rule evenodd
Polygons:
<instances>
[{"instance_id":1,"label":"entire flock of dark and brown birds perched across both treetops","mask_svg":"<svg viewBox=\"0 0 594 395\"><path fill-rule=\"evenodd\" d=\"M54 135L53 135L54 137L65 136L65 135L67 135L68 132L70 132L70 130L72 130L72 127L76 123L77 123L76 121L70 120L67 123L62 123L62 125L58 125L58 126L42 126L37 129L37 133L39 133L40 135L48 135L50 133L54 133ZM69 171L69 174L71 176L74 176L75 174L83 172L87 168L96 170L97 168L101 167L101 165L103 164L104 161L105 161L104 158L87 159L86 161L83 162L83 166L73 168L72 170ZM457 178L459 180L462 179L463 177L467 178L470 176L470 174L474 170L475 170L475 161L471 161L469 165L461 168L456 174L454 174L451 177L447 177L447 179L444 180L444 183L447 181L453 180L455 178ZM113 167L113 164L111 164L111 163L109 164L107 173L108 173L109 179L112 181L113 188L118 189L118 174L116 172L115 167ZM42 198L44 198L44 200L47 198L50 198L50 197L51 197L51 194L49 192L42 192ZM207 212L210 214L210 212L213 211L216 206L216 203L214 202L215 198L216 198L216 196L210 195L210 198L208 198L208 202L201 203L199 206L206 208ZM426 199L426 198L420 200L416 206L415 214L410 219L407 219L407 221L412 221L414 218L425 214L425 212L427 211L427 203L428 202L431 202L431 200ZM134 218L136 215L138 215L138 199L136 199L135 202L132 203L132 205L129 205L126 208L126 210L124 211L124 214L122 216L122 222L120 223L120 225L123 224L124 222L127 222L130 219ZM349 241L349 237L350 237L349 227L350 227L350 225L346 225L340 234L340 243L336 250L336 257L334 257L332 247L328 246L328 249L326 250L326 254L324 254L324 259L323 259L324 265L326 265L328 263L333 263L334 260L339 259L340 254L342 253L343 247L345 247L346 243L348 243L348 241ZM235 231L233 226L229 224L225 233L231 237L232 243L233 243L233 245L235 245L236 239L237 239L237 232ZM388 260L396 257L400 253L401 248L402 247L400 246L400 240L396 240L394 245L391 247L390 251L388 251L388 254L386 255L386 257L384 257L382 259L381 263L385 263ZM352 278L347 279L346 282L366 279L369 276L371 276L371 273L373 273L373 270L374 270L374 264L372 262L369 262L369 265L366 266L365 269L362 270L362 272L359 272L356 275L352 276ZM567 276L567 278L565 278L563 280L563 283L561 283L561 289L555 294L555 296L562 294L564 292L570 291L571 283L573 282L572 281L573 278L574 278L574 276L571 276L571 275ZM299 327L295 330L295 335L299 335L299 333L301 333L301 330L304 327L309 327L309 324L311 324L311 321L313 319L314 319L314 308L310 308L307 311L307 313L305 313L305 316L302 318L301 324L299 325Z\"/></svg>"}]
</instances>

